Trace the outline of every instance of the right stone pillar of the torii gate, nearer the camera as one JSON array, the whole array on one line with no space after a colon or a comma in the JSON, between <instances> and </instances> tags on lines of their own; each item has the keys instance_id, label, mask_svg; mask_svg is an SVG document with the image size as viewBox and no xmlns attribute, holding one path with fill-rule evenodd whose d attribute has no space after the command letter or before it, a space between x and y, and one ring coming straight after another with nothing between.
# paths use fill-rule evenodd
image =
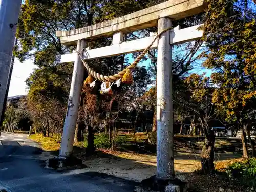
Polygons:
<instances>
[{"instance_id":1,"label":"right stone pillar of the torii gate, nearer the camera","mask_svg":"<svg viewBox=\"0 0 256 192\"><path fill-rule=\"evenodd\" d=\"M158 33L172 27L169 18L158 20ZM174 131L172 100L172 46L170 31L162 34L157 48L157 173L161 179L174 179Z\"/></svg>"}]
</instances>

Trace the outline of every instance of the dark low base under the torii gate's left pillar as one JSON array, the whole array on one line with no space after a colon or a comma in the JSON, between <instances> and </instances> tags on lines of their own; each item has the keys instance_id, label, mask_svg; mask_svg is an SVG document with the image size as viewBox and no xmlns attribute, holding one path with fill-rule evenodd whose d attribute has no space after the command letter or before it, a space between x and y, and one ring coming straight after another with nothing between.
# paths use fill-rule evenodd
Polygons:
<instances>
[{"instance_id":1,"label":"dark low base under the torii gate's left pillar","mask_svg":"<svg viewBox=\"0 0 256 192\"><path fill-rule=\"evenodd\" d=\"M45 168L54 169L54 170L74 170L74 169L81 169L86 168L87 166L82 163L81 159L76 157L53 157L49 158L46 161Z\"/></svg>"}]
</instances>

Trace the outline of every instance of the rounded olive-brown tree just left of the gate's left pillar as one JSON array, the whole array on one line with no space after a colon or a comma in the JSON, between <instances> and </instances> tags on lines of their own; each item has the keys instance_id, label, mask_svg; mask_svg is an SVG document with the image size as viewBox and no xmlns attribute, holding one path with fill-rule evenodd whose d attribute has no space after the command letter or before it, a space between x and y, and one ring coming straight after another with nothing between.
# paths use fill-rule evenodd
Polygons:
<instances>
[{"instance_id":1,"label":"rounded olive-brown tree just left of the gate's left pillar","mask_svg":"<svg viewBox=\"0 0 256 192\"><path fill-rule=\"evenodd\" d=\"M28 110L44 136L49 137L50 131L62 132L69 87L66 82L49 67L36 69L27 79Z\"/></svg>"}]
</instances>

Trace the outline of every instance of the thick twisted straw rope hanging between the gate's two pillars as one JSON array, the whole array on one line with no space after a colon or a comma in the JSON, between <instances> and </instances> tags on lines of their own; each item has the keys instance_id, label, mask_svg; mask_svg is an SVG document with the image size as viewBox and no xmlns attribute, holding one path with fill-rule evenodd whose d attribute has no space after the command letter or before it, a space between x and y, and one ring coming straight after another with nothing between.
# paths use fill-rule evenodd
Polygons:
<instances>
[{"instance_id":1,"label":"thick twisted straw rope hanging between the gate's two pillars","mask_svg":"<svg viewBox=\"0 0 256 192\"><path fill-rule=\"evenodd\" d=\"M114 74L114 75L110 75L110 76L103 76L102 74L99 74L99 73L96 73L89 65L88 63L86 62L86 60L83 60L82 59L82 56L81 54L77 51L76 53L78 54L78 56L80 57L84 67L87 69L87 71L97 80L100 80L100 81L103 81L103 82L106 82L106 81L109 81L109 82L114 82L120 78L123 77L123 75L125 74L125 72L127 70L130 70L130 69L133 69L137 66L137 64L140 62L140 60L144 57L144 55L148 52L148 50L150 50L151 46L154 44L154 42L166 31L168 30L171 30L173 28L166 28L164 29L163 31L161 31L159 34L157 34L157 36L154 38L154 40L151 42L151 44L149 46L146 47L146 49L133 61L133 63L130 65L130 66L127 66L124 70L118 72L117 74ZM82 50L83 52L83 50Z\"/></svg>"}]
</instances>

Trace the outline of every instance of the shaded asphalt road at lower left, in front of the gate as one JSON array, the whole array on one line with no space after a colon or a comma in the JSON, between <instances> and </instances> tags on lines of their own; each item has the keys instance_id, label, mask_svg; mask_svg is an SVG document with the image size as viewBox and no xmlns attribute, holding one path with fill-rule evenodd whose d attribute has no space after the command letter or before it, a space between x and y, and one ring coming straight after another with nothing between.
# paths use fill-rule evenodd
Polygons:
<instances>
[{"instance_id":1,"label":"shaded asphalt road at lower left, in front of the gate","mask_svg":"<svg viewBox=\"0 0 256 192\"><path fill-rule=\"evenodd\" d=\"M9 192L132 192L138 183L96 172L46 169L37 143L26 135L1 133L0 191Z\"/></svg>"}]
</instances>

